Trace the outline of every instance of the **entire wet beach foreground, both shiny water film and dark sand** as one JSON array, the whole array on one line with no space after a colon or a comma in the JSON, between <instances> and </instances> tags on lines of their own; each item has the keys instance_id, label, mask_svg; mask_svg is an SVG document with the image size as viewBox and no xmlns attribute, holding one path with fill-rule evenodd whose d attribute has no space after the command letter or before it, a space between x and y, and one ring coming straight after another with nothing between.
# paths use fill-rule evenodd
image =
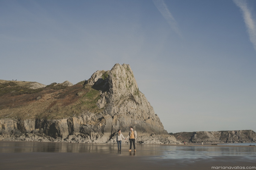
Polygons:
<instances>
[{"instance_id":1,"label":"entire wet beach foreground, both shiny water film and dark sand","mask_svg":"<svg viewBox=\"0 0 256 170\"><path fill-rule=\"evenodd\" d=\"M11 146L8 146L8 144ZM45 146L47 145L47 147ZM255 147L233 147L216 145L170 146L171 157L162 151L167 145L136 145L137 152L128 152L129 145L122 144L122 151L116 145L0 142L0 169L198 169L212 167L255 167ZM186 146L186 147L184 147ZM182 148L182 150L180 150ZM246 152L242 151L246 148ZM193 151L191 151L192 149ZM205 150L206 149L206 150ZM217 153L209 156L208 152ZM224 150L223 150L224 149ZM237 150L238 149L238 150ZM249 150L248 150L249 149ZM162 150L162 151L159 151ZM183 150L185 150L183 152ZM228 154L230 150L230 154ZM233 156L233 150L238 154ZM251 152L250 152L251 150ZM198 154L193 157L192 153ZM220 152L220 153L219 153ZM169 152L168 152L169 153ZM204 153L205 158L204 158ZM215 153L215 154L216 154ZM222 154L224 155L222 156ZM248 154L248 155L247 155ZM231 155L231 156L229 156ZM236 169L235 168L235 169ZM220 169L220 168L219 168ZM226 168L227 169L227 168Z\"/></svg>"}]
</instances>

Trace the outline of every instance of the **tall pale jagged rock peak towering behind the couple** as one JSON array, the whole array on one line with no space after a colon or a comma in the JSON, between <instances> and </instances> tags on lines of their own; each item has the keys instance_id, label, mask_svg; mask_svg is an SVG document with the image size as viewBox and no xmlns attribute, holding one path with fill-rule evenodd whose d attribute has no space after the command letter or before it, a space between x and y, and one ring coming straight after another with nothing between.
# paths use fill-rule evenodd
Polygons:
<instances>
[{"instance_id":1,"label":"tall pale jagged rock peak towering behind the couple","mask_svg":"<svg viewBox=\"0 0 256 170\"><path fill-rule=\"evenodd\" d=\"M139 91L129 64L115 64L110 71L98 70L85 84L101 92L97 106L113 118L112 129L135 126L141 133L167 134L153 107Z\"/></svg>"}]
</instances>

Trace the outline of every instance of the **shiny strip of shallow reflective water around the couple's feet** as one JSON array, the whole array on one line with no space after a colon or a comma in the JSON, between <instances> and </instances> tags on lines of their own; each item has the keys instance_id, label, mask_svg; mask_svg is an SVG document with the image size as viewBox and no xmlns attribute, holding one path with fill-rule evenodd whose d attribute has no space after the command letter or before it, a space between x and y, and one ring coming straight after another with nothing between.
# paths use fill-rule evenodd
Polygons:
<instances>
[{"instance_id":1,"label":"shiny strip of shallow reflective water around the couple's feet","mask_svg":"<svg viewBox=\"0 0 256 170\"><path fill-rule=\"evenodd\" d=\"M128 144L122 144L122 152L116 144L85 144L58 142L0 142L0 153L59 152L59 153L101 153L119 156L147 156L156 159L209 159L218 156L239 156L256 160L256 147L200 146L200 145L140 145L137 152L128 152Z\"/></svg>"}]
</instances>

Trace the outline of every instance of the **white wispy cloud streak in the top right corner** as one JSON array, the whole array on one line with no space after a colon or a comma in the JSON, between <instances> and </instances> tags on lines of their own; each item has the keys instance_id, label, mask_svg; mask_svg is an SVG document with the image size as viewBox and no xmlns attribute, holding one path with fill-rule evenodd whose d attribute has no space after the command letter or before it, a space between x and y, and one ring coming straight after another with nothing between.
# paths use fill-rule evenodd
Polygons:
<instances>
[{"instance_id":1,"label":"white wispy cloud streak in the top right corner","mask_svg":"<svg viewBox=\"0 0 256 170\"><path fill-rule=\"evenodd\" d=\"M233 2L241 9L245 25L251 40L251 43L254 46L256 51L256 21L252 17L252 13L249 10L245 0L233 0Z\"/></svg>"}]
</instances>

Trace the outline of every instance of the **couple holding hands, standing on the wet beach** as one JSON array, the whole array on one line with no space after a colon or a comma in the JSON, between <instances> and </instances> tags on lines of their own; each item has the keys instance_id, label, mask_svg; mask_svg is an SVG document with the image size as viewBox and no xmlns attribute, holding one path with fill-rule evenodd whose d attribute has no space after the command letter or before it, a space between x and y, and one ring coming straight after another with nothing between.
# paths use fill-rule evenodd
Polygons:
<instances>
[{"instance_id":1,"label":"couple holding hands, standing on the wet beach","mask_svg":"<svg viewBox=\"0 0 256 170\"><path fill-rule=\"evenodd\" d=\"M122 143L122 139L129 139L130 141L130 150L129 151L132 151L132 144L133 144L133 148L134 148L134 151L136 152L136 148L135 148L135 140L137 138L137 132L136 130L133 130L133 127L131 126L130 127L130 132L127 136L127 138L124 138L123 137L123 134L121 133L121 130L119 129L117 131L117 134L116 134L116 137L117 137L117 147L118 147L118 151L121 151L121 143Z\"/></svg>"}]
</instances>

